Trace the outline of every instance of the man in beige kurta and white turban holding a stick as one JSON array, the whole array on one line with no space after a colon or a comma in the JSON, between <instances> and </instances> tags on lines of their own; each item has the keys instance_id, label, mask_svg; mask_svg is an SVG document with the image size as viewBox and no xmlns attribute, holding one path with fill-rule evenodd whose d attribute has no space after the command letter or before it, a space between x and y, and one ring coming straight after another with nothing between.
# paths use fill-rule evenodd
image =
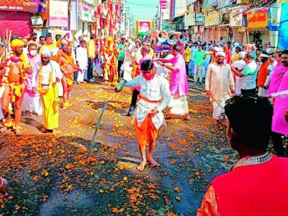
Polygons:
<instances>
[{"instance_id":1,"label":"man in beige kurta and white turban holding a stick","mask_svg":"<svg viewBox=\"0 0 288 216\"><path fill-rule=\"evenodd\" d=\"M209 64L207 69L205 90L213 105L213 118L221 123L225 120L225 101L235 93L235 83L230 65L224 62L225 53L217 51L215 57L216 62Z\"/></svg>"}]
</instances>

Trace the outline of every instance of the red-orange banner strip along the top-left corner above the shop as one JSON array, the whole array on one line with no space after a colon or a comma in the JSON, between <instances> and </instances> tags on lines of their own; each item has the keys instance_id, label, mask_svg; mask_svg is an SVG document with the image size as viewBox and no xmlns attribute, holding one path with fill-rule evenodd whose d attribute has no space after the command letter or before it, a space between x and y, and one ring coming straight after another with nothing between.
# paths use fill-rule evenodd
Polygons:
<instances>
[{"instance_id":1,"label":"red-orange banner strip along the top-left corner above the shop","mask_svg":"<svg viewBox=\"0 0 288 216\"><path fill-rule=\"evenodd\" d=\"M39 5L40 0L1 0L0 10L38 12Z\"/></svg>"}]
</instances>

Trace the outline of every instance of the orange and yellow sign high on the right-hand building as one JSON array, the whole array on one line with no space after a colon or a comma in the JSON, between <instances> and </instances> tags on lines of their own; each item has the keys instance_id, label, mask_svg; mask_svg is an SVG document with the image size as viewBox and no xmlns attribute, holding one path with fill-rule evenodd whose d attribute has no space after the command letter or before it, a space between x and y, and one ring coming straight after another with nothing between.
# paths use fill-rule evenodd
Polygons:
<instances>
[{"instance_id":1,"label":"orange and yellow sign high on the right-hand building","mask_svg":"<svg viewBox=\"0 0 288 216\"><path fill-rule=\"evenodd\" d=\"M267 27L268 26L268 16L267 9L259 10L256 12L247 12L247 22L248 27Z\"/></svg>"}]
</instances>

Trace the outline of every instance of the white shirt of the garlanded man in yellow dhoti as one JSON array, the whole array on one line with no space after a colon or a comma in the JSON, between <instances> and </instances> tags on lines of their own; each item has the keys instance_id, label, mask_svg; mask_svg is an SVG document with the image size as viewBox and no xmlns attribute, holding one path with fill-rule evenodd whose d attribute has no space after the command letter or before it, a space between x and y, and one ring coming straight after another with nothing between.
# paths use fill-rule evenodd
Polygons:
<instances>
[{"instance_id":1,"label":"white shirt of the garlanded man in yellow dhoti","mask_svg":"<svg viewBox=\"0 0 288 216\"><path fill-rule=\"evenodd\" d=\"M41 62L38 62L38 64L36 64L36 68L33 73L32 87L36 86L36 80L38 80L38 76L40 72L40 65L41 65ZM43 66L43 71L42 71L42 75L43 75L42 84L43 85L49 84L49 75L50 75L51 70L53 70L53 79L52 79L53 83L56 82L56 77L59 78L60 80L62 79L63 75L61 73L59 64L51 60L49 64Z\"/></svg>"}]
</instances>

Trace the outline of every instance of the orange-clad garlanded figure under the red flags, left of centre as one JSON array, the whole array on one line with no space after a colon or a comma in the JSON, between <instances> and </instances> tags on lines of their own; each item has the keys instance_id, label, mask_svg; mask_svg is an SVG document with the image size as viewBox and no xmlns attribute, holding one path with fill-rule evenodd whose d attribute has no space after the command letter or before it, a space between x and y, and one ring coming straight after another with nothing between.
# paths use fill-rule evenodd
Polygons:
<instances>
[{"instance_id":1,"label":"orange-clad garlanded figure under the red flags, left of centre","mask_svg":"<svg viewBox=\"0 0 288 216\"><path fill-rule=\"evenodd\" d=\"M116 49L112 37L107 37L104 47L104 77L108 77L110 84L117 85L117 58L119 51Z\"/></svg>"}]
</instances>

